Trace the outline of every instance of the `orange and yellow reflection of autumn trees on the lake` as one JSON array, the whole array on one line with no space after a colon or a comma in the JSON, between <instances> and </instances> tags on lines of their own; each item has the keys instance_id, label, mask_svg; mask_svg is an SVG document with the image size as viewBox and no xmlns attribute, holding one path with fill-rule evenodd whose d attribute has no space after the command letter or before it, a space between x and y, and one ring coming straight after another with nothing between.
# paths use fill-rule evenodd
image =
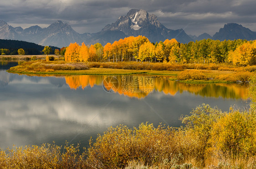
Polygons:
<instances>
[{"instance_id":1,"label":"orange and yellow reflection of autumn trees on the lake","mask_svg":"<svg viewBox=\"0 0 256 169\"><path fill-rule=\"evenodd\" d=\"M138 99L145 98L149 93L153 91L163 92L164 94L175 95L176 93L182 93L187 91L196 95L204 97L215 97L215 98L227 98L227 99L246 99L248 96L248 87L241 86L238 84L184 84L176 81L153 77L154 84L143 83L147 81L146 78L149 76L141 75L118 75L114 76L118 82L112 83L111 79L108 80L109 76L98 76L98 75L77 75L77 76L66 76L66 83L71 89L77 89L80 86L84 89L87 86L93 87L94 85L103 85L106 89L115 89L115 92L128 97L135 97ZM104 80L106 79L107 80ZM138 83L134 83L134 79L137 78ZM138 80L139 78L139 80Z\"/></svg>"}]
</instances>

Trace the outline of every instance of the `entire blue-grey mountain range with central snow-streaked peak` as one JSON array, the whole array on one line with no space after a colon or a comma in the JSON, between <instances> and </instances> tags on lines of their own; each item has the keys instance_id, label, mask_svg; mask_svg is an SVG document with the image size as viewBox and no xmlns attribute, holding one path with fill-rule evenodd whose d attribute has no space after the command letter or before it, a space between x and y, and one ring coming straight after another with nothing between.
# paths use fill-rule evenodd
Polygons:
<instances>
[{"instance_id":1,"label":"entire blue-grey mountain range with central snow-streaked peak","mask_svg":"<svg viewBox=\"0 0 256 169\"><path fill-rule=\"evenodd\" d=\"M221 28L212 37L206 33L198 37L187 35L182 29L171 30L166 28L159 22L156 15L148 14L147 11L138 9L130 10L127 15L120 16L115 23L106 25L97 33L79 34L70 25L64 24L61 20L52 23L47 28L41 28L36 25L26 29L12 27L0 20L0 39L24 40L39 45L57 47L68 46L71 42L79 44L85 42L86 45L99 42L105 45L121 38L138 35L146 36L151 42L173 38L181 43L208 38L214 40L256 39L256 32L235 23L224 25L224 28Z\"/></svg>"}]
</instances>

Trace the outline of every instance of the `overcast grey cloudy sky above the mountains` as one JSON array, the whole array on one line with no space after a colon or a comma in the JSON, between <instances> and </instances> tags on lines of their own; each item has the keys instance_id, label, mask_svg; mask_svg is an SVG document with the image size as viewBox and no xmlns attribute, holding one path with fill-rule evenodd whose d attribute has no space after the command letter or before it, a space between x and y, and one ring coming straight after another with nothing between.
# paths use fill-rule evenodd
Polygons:
<instances>
[{"instance_id":1,"label":"overcast grey cloudy sky above the mountains","mask_svg":"<svg viewBox=\"0 0 256 169\"><path fill-rule=\"evenodd\" d=\"M214 35L226 23L256 31L256 0L2 0L0 20L23 29L62 20L78 33L95 33L133 8L190 35Z\"/></svg>"}]
</instances>

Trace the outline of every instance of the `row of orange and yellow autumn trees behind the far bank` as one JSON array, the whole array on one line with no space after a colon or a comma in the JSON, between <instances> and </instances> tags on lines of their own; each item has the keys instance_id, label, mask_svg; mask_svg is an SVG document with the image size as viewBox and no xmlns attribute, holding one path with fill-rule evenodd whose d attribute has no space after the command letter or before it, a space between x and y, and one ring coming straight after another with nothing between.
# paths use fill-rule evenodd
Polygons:
<instances>
[{"instance_id":1,"label":"row of orange and yellow autumn trees behind the far bank","mask_svg":"<svg viewBox=\"0 0 256 169\"><path fill-rule=\"evenodd\" d=\"M64 51L66 50L66 51ZM127 37L107 43L86 46L71 43L61 48L65 60L79 61L141 61L170 63L232 63L256 65L256 40L200 40L179 43L175 39L151 43L145 36Z\"/></svg>"}]
</instances>

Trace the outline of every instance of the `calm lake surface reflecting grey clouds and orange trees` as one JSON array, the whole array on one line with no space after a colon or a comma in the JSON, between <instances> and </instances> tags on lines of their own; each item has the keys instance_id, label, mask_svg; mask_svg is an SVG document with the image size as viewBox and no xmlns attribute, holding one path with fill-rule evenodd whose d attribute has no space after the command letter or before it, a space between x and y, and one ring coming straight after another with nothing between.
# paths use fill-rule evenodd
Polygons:
<instances>
[{"instance_id":1,"label":"calm lake surface reflecting grey clouds and orange trees","mask_svg":"<svg viewBox=\"0 0 256 169\"><path fill-rule=\"evenodd\" d=\"M13 144L88 145L110 126L178 127L181 114L205 103L228 111L247 105L246 86L181 84L154 76L27 76L0 61L0 148ZM118 82L118 83L116 83ZM102 87L103 86L103 87Z\"/></svg>"}]
</instances>

